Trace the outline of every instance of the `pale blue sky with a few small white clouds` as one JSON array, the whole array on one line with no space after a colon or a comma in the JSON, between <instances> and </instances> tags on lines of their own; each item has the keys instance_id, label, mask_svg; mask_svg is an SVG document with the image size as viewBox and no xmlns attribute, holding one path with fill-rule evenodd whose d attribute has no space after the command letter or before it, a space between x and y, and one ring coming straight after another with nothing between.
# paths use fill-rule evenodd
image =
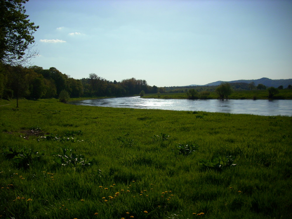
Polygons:
<instances>
[{"instance_id":1,"label":"pale blue sky with a few small white clouds","mask_svg":"<svg viewBox=\"0 0 292 219\"><path fill-rule=\"evenodd\" d=\"M292 78L291 0L29 0L33 65L150 86Z\"/></svg>"}]
</instances>

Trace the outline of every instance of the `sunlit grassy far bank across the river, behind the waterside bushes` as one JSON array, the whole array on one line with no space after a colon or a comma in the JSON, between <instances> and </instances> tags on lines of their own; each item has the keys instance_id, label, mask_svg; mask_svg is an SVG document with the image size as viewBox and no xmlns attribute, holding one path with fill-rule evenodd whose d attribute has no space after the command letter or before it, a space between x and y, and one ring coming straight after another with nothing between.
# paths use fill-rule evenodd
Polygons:
<instances>
[{"instance_id":1,"label":"sunlit grassy far bank across the river, behind the waterside bushes","mask_svg":"<svg viewBox=\"0 0 292 219\"><path fill-rule=\"evenodd\" d=\"M158 98L157 94L146 94L144 98ZM160 98L164 99L186 99L186 93L161 93ZM210 99L217 99L218 95L215 92L210 92ZM252 91L234 91L229 99L268 99L268 92L266 90L252 90ZM279 90L279 94L275 95L273 99L292 100L292 90Z\"/></svg>"}]
</instances>

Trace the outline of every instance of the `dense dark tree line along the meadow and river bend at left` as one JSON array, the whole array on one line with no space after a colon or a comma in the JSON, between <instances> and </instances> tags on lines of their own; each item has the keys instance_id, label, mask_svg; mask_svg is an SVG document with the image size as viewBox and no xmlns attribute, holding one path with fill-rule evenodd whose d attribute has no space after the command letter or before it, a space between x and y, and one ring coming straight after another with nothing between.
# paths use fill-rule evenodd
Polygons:
<instances>
[{"instance_id":1,"label":"dense dark tree line along the meadow and river bend at left","mask_svg":"<svg viewBox=\"0 0 292 219\"><path fill-rule=\"evenodd\" d=\"M66 91L70 98L89 96L127 96L163 92L162 88L149 86L147 81L130 78L109 81L91 73L88 78L74 79L55 67L0 65L0 98L27 99L58 98Z\"/></svg>"}]
</instances>

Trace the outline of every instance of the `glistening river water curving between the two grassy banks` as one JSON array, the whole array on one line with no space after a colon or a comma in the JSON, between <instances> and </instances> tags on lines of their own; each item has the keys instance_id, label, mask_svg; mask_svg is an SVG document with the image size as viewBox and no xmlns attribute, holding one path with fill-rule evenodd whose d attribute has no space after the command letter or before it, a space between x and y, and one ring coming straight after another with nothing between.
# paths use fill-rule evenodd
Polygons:
<instances>
[{"instance_id":1,"label":"glistening river water curving between the two grassy banks","mask_svg":"<svg viewBox=\"0 0 292 219\"><path fill-rule=\"evenodd\" d=\"M81 100L72 104L136 109L224 112L263 116L292 116L292 100L181 100L120 97Z\"/></svg>"}]
</instances>

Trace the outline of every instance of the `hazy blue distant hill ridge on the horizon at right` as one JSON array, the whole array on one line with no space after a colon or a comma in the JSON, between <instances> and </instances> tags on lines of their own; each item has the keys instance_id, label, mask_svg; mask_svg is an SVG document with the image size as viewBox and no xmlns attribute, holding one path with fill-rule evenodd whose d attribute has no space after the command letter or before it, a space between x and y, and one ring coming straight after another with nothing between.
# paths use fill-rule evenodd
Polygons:
<instances>
[{"instance_id":1,"label":"hazy blue distant hill ridge on the horizon at right","mask_svg":"<svg viewBox=\"0 0 292 219\"><path fill-rule=\"evenodd\" d=\"M269 78L260 78L260 79L256 79L256 80L237 80L237 81L226 81L228 83L251 83L251 82L254 82L255 85L257 86L258 84L263 84L267 87L279 87L281 85L283 85L284 88L287 88L288 85L292 85L292 79L277 79L277 80L272 80L272 79L269 79ZM205 84L205 85L202 85L202 86L217 86L217 85L220 85L222 82L225 82L225 81L215 81L215 82L212 82L212 83L209 83L209 84ZM190 85L190 86L196 86L196 85Z\"/></svg>"}]
</instances>

